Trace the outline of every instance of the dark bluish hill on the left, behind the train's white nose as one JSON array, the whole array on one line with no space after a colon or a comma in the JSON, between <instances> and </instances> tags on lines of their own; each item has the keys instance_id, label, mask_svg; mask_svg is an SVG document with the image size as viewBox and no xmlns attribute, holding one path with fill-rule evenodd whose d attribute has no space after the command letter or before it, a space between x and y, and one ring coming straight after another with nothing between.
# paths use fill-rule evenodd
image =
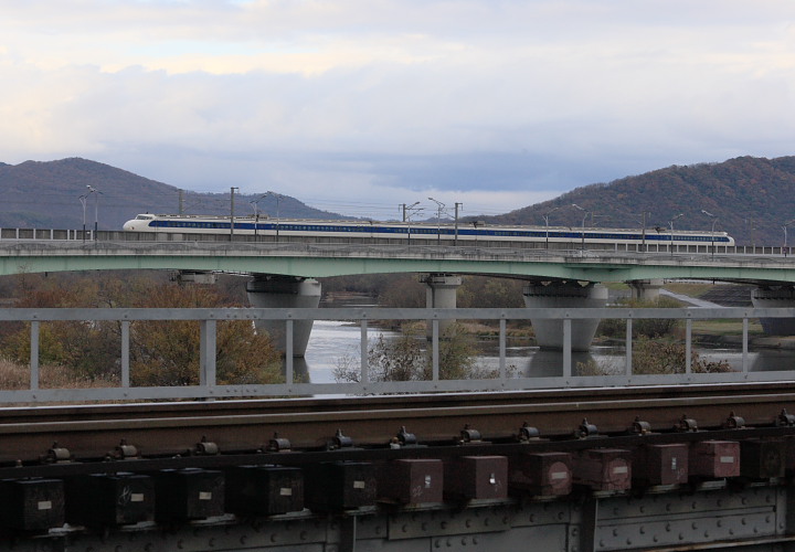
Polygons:
<instances>
[{"instance_id":1,"label":"dark bluish hill on the left, behind the train's white nose","mask_svg":"<svg viewBox=\"0 0 795 552\"><path fill-rule=\"evenodd\" d=\"M85 199L87 187L98 190ZM0 163L0 226L81 229L95 217L99 230L120 230L138 213L229 214L230 193L180 192L173 185L149 180L109 164L81 158L60 161ZM262 194L235 194L235 212L252 214L250 201ZM180 200L181 197L181 200ZM273 195L257 202L262 213L276 214ZM283 195L278 214L289 219L343 219Z\"/></svg>"}]
</instances>

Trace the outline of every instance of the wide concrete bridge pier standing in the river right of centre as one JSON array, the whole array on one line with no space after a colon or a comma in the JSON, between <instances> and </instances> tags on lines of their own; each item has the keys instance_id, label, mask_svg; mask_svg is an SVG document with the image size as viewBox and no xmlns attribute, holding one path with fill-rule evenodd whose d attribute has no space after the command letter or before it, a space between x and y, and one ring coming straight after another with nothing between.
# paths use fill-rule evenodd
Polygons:
<instances>
[{"instance_id":1,"label":"wide concrete bridge pier standing in the river right of centre","mask_svg":"<svg viewBox=\"0 0 795 552\"><path fill-rule=\"evenodd\" d=\"M607 288L600 284L581 285L561 282L548 285L528 284L522 289L528 308L603 308L607 305ZM587 351L596 333L598 320L572 320L572 351ZM530 319L541 349L563 349L563 320Z\"/></svg>"}]
</instances>

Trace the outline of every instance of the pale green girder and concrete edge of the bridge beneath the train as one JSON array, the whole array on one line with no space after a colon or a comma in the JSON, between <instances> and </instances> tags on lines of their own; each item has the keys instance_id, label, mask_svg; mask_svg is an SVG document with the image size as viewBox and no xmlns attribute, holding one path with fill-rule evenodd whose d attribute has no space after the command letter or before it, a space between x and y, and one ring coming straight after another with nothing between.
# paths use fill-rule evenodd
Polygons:
<instances>
[{"instance_id":1,"label":"pale green girder and concrete edge of the bridge beneath the train","mask_svg":"<svg viewBox=\"0 0 795 552\"><path fill-rule=\"evenodd\" d=\"M33 244L32 244L33 245ZM322 278L360 274L446 273L479 274L522 279L630 282L643 279L700 279L761 285L795 283L795 262L782 258L634 255L564 256L511 255L488 250L383 253L327 248L322 251L266 251L180 246L132 248L92 246L84 250L17 246L0 251L0 275L76 270L171 269L259 273ZM391 254L391 255L390 255Z\"/></svg>"}]
</instances>

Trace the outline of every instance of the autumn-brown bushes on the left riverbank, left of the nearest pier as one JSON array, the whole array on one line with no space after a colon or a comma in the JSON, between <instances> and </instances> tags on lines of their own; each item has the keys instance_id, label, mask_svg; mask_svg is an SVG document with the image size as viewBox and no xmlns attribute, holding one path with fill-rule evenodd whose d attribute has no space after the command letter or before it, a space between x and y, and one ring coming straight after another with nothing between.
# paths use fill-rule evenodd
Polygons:
<instances>
[{"instance_id":1,"label":"autumn-brown bushes on the left riverbank, left of the nearest pier","mask_svg":"<svg viewBox=\"0 0 795 552\"><path fill-rule=\"evenodd\" d=\"M17 307L176 307L237 306L222 288L178 286L150 277L110 276L47 278L22 274L17 278ZM130 323L130 374L134 385L192 385L199 382L197 321ZM221 384L272 383L280 378L279 354L267 336L251 321L223 321L216 329L216 373ZM116 321L42 322L39 359L60 367L76 380L118 381L121 329ZM0 355L25 364L30 360L30 327L0 326ZM112 360L108 360L112 359ZM113 360L115 359L115 360ZM43 385L47 382L43 381Z\"/></svg>"}]
</instances>

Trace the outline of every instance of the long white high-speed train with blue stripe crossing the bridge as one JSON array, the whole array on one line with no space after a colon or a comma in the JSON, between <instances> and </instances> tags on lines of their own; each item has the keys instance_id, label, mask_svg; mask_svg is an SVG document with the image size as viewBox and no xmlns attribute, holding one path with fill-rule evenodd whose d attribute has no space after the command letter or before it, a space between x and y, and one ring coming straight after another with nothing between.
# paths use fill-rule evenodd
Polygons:
<instances>
[{"instance_id":1,"label":"long white high-speed train with blue stripe crossing the bridge","mask_svg":"<svg viewBox=\"0 0 795 552\"><path fill-rule=\"evenodd\" d=\"M550 245L569 244L572 247L581 243L590 246L602 245L600 248L613 248L616 244L653 245L664 250L671 244L685 245L720 245L732 246L734 240L725 232L693 232L667 229L590 229L561 226L504 226L484 224L483 222L451 223L431 222L378 222L378 221L312 221L297 219L267 219L264 216L235 216L234 229L230 226L230 216L213 215L173 215L173 214L139 214L124 224L127 232L177 233L190 235L252 236L257 241L307 241L317 240L322 243L361 241L364 243L401 243L422 242L432 244L458 243L460 245L478 242L505 243L506 246L518 246L527 243ZM199 235L193 236L201 238ZM209 236L208 236L209 237ZM532 245L531 245L532 246ZM539 246L539 245L536 245ZM540 245L543 247L543 245Z\"/></svg>"}]
</instances>

